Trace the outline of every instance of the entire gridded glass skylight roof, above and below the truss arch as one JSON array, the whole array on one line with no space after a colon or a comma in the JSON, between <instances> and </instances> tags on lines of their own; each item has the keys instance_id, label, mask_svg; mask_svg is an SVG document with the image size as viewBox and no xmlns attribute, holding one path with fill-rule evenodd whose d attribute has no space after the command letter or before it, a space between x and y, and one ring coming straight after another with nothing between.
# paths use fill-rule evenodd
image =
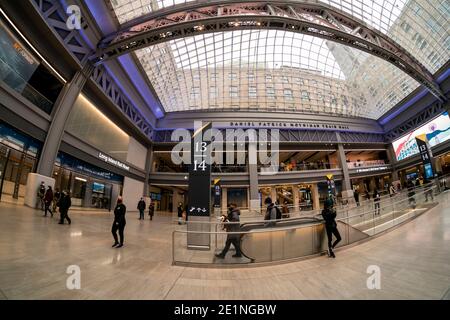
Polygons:
<instances>
[{"instance_id":1,"label":"entire gridded glass skylight roof, above and below the truss arch","mask_svg":"<svg viewBox=\"0 0 450 320\"><path fill-rule=\"evenodd\" d=\"M120 23L186 1L111 0ZM387 34L430 72L449 58L449 1L322 1ZM377 119L418 87L391 64L275 30L220 32L136 52L166 112L273 110Z\"/></svg>"}]
</instances>

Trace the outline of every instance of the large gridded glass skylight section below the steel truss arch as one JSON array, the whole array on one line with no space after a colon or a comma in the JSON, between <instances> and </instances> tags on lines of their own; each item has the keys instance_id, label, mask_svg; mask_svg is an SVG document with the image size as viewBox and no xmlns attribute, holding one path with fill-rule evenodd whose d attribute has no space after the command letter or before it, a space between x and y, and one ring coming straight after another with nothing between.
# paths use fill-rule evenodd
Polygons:
<instances>
[{"instance_id":1,"label":"large gridded glass skylight section below the steel truss arch","mask_svg":"<svg viewBox=\"0 0 450 320\"><path fill-rule=\"evenodd\" d=\"M418 86L379 58L279 30L203 34L136 54L167 112L266 110L377 119Z\"/></svg>"}]
</instances>

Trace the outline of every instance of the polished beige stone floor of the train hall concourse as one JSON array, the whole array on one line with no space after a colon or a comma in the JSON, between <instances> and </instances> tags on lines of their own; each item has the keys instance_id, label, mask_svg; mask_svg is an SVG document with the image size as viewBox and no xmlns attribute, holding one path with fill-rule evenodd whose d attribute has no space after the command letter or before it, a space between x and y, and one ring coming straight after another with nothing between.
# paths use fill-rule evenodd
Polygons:
<instances>
[{"instance_id":1,"label":"polished beige stone floor of the train hall concourse","mask_svg":"<svg viewBox=\"0 0 450 320\"><path fill-rule=\"evenodd\" d=\"M72 212L58 225L40 211L0 203L0 299L449 299L450 196L366 243L277 266L172 266L171 217L128 216L126 244L111 248L109 213ZM68 290L67 267L81 270ZM367 268L381 289L367 288Z\"/></svg>"}]
</instances>

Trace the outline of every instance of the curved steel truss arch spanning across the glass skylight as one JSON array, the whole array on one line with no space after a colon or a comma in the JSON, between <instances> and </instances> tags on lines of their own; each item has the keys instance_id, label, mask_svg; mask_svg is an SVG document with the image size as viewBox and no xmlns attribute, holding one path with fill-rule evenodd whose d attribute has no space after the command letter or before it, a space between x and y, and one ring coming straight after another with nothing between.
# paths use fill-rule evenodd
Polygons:
<instances>
[{"instance_id":1,"label":"curved steel truss arch spanning across the glass skylight","mask_svg":"<svg viewBox=\"0 0 450 320\"><path fill-rule=\"evenodd\" d=\"M204 33L275 29L351 46L379 57L446 97L431 72L407 50L363 21L326 4L305 1L195 1L130 21L105 37L91 57L96 64L158 43Z\"/></svg>"}]
</instances>

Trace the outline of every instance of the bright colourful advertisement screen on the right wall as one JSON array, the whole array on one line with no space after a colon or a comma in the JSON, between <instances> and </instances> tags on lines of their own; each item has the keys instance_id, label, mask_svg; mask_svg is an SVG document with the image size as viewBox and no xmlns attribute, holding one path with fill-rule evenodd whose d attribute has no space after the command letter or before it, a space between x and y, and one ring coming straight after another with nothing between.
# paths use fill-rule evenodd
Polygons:
<instances>
[{"instance_id":1,"label":"bright colourful advertisement screen on the right wall","mask_svg":"<svg viewBox=\"0 0 450 320\"><path fill-rule=\"evenodd\" d=\"M398 161L419 154L416 137L421 134L426 134L430 147L434 147L449 140L450 118L448 112L444 112L436 119L426 123L415 131L408 133L402 138L395 140L392 145Z\"/></svg>"}]
</instances>

